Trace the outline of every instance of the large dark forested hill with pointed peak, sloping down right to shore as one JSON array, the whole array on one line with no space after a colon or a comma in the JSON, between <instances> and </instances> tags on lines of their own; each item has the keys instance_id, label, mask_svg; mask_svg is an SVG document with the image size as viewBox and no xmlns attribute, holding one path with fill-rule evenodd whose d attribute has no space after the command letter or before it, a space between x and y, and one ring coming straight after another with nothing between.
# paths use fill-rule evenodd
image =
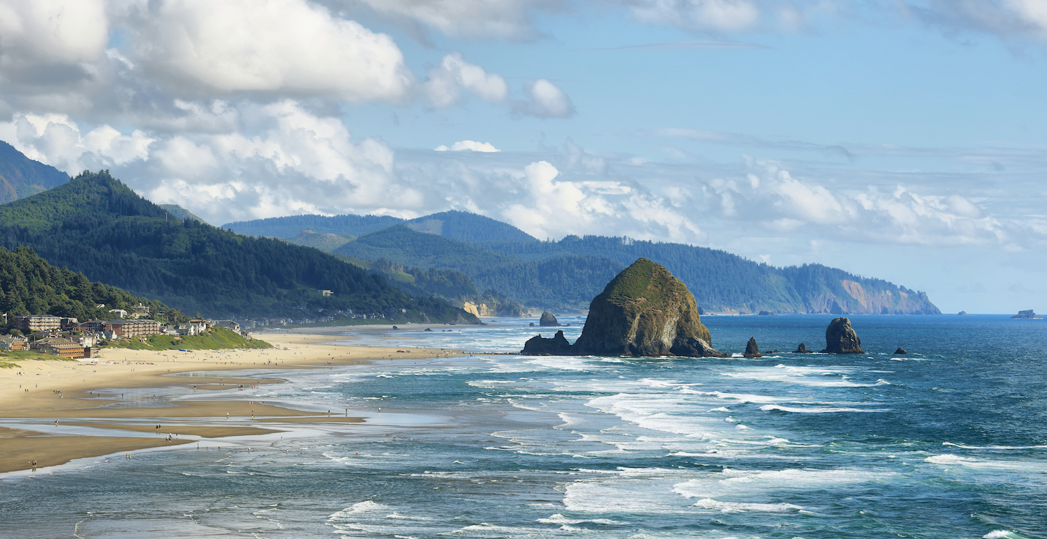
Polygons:
<instances>
[{"instance_id":1,"label":"large dark forested hill with pointed peak, sloping down right to shore","mask_svg":"<svg viewBox=\"0 0 1047 539\"><path fill-rule=\"evenodd\" d=\"M213 317L353 310L402 321L478 322L316 249L174 218L105 171L0 205L0 245L29 246L90 279Z\"/></svg>"}]
</instances>

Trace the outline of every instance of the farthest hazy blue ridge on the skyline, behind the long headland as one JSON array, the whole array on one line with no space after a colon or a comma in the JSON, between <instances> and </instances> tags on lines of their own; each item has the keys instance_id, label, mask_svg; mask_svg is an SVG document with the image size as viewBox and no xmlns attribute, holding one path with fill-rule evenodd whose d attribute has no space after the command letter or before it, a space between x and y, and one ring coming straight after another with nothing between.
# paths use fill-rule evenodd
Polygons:
<instances>
[{"instance_id":1,"label":"farthest hazy blue ridge on the skyline, behind the long headland","mask_svg":"<svg viewBox=\"0 0 1047 539\"><path fill-rule=\"evenodd\" d=\"M237 221L222 225L222 228L248 235L296 239L309 229L313 233L358 237L396 224L430 234L458 240L460 242L520 242L534 243L538 240L507 223L489 217L466 211L444 211L418 219L403 220L389 216L290 216Z\"/></svg>"}]
</instances>

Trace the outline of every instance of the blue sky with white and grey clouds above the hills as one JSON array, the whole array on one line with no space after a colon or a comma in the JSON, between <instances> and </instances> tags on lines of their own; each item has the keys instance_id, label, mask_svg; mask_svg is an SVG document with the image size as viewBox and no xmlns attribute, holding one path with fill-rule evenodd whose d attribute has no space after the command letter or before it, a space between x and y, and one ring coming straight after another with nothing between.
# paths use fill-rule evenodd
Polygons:
<instances>
[{"instance_id":1,"label":"blue sky with white and grey clouds above the hills","mask_svg":"<svg viewBox=\"0 0 1047 539\"><path fill-rule=\"evenodd\" d=\"M215 225L466 210L1047 312L1047 0L0 0L0 140Z\"/></svg>"}]
</instances>

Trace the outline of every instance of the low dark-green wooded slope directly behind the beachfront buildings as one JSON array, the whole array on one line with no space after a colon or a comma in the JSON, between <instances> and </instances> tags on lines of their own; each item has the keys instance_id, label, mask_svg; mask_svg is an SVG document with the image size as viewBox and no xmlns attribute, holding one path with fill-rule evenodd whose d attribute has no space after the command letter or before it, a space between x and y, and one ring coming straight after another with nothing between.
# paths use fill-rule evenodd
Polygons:
<instances>
[{"instance_id":1,"label":"low dark-green wooded slope directly behind the beachfront buildings","mask_svg":"<svg viewBox=\"0 0 1047 539\"><path fill-rule=\"evenodd\" d=\"M13 251L0 248L0 310L7 313L8 323L18 314L73 316L81 321L108 319L113 316L110 309L133 311L139 305L149 308L149 316L157 320L188 319L160 301L91 283L83 273L51 266L28 247Z\"/></svg>"}]
</instances>

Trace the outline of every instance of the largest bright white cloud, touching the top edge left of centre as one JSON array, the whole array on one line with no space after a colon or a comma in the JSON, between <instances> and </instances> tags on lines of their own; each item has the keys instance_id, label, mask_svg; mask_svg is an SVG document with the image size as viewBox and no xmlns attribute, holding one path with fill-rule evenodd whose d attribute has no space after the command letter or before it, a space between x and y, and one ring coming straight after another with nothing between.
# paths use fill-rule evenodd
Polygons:
<instances>
[{"instance_id":1,"label":"largest bright white cloud, touching the top edge left of centre","mask_svg":"<svg viewBox=\"0 0 1047 539\"><path fill-rule=\"evenodd\" d=\"M141 13L133 60L190 94L400 100L413 85L392 38L306 0L168 0Z\"/></svg>"}]
</instances>

